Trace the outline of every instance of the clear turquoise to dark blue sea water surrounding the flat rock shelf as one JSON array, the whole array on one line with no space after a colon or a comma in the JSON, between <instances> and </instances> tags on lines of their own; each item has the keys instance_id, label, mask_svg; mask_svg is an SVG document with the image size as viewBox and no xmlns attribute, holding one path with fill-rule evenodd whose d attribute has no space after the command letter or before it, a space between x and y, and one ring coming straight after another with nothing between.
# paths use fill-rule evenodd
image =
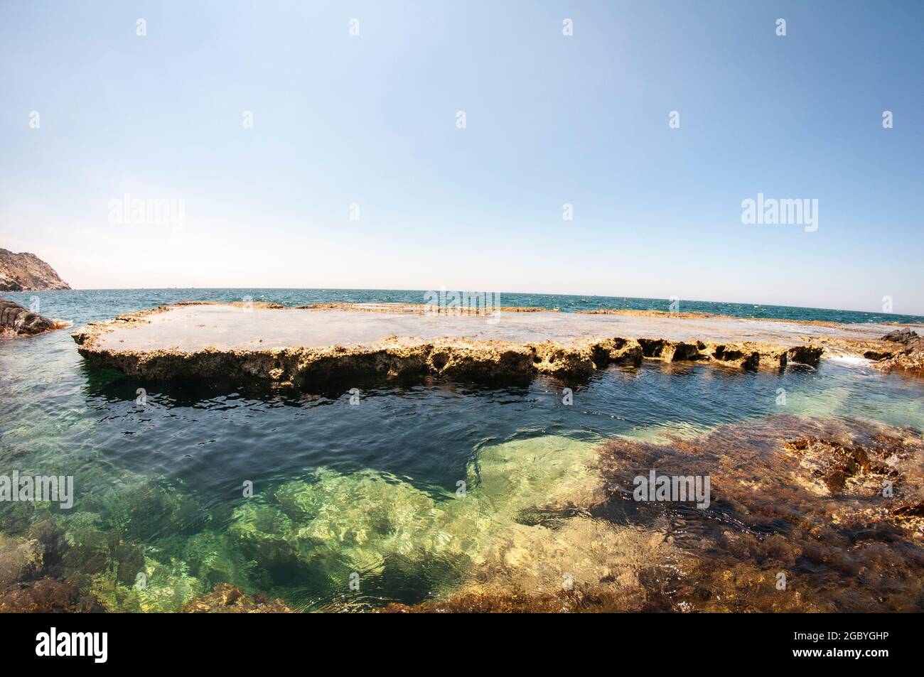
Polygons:
<instances>
[{"instance_id":1,"label":"clear turquoise to dark blue sea water surrounding the flat rock shelf","mask_svg":"<svg viewBox=\"0 0 924 677\"><path fill-rule=\"evenodd\" d=\"M38 296L43 314L79 325L189 298L249 295L298 305L419 302L417 294L130 290L8 296L27 303ZM505 305L570 310L660 303L502 299ZM746 312L693 306L682 308ZM760 312L846 320L843 313L826 314L835 311L777 310L781 314ZM852 321L882 319L849 315ZM350 387L359 388L358 405L350 404ZM145 404L137 401L139 388L146 391ZM572 405L563 404L565 388L573 390ZM924 384L824 361L819 369L794 366L782 373L646 364L597 372L586 381L543 378L507 387L430 379L307 393L249 384L216 390L208 383L142 383L91 368L69 332L52 332L0 342L0 474L17 469L72 475L75 505L62 510L0 503L0 535L28 539L36 525L54 524L62 550L48 558L43 574L77 576L113 611L175 611L219 582L269 593L306 611L415 603L473 582L548 586L543 576L557 577L555 567L581 571L586 558L568 557L585 546L587 529L596 529L595 538L606 543L626 538L612 531L605 516L586 511L568 513L566 526L555 530L525 516L580 503L595 490L591 468L601 441L694 437L720 424L779 413L878 421L920 435ZM252 497L243 495L246 481L252 482ZM461 498L459 482L467 489ZM553 563L563 557L566 564ZM140 573L144 589L135 586ZM349 585L353 574L359 590Z\"/></svg>"}]
</instances>

